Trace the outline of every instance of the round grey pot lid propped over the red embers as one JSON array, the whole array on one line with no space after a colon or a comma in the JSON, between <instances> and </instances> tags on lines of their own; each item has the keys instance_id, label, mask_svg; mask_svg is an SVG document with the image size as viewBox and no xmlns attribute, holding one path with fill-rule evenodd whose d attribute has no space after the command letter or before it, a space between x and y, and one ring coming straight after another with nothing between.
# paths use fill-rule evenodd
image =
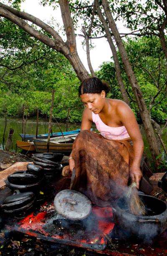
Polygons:
<instances>
[{"instance_id":1,"label":"round grey pot lid propped over the red embers","mask_svg":"<svg viewBox=\"0 0 167 256\"><path fill-rule=\"evenodd\" d=\"M83 220L91 213L91 201L81 192L64 189L54 199L58 214L70 220Z\"/></svg>"}]
</instances>

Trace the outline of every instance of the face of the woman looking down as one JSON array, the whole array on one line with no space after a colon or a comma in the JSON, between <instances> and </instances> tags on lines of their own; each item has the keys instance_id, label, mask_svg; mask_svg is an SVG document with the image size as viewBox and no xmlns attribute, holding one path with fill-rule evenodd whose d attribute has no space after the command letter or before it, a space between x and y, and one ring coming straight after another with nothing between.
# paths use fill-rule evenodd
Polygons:
<instances>
[{"instance_id":1,"label":"face of the woman looking down","mask_svg":"<svg viewBox=\"0 0 167 256\"><path fill-rule=\"evenodd\" d=\"M86 108L89 108L94 114L99 114L104 107L105 92L84 93L80 98Z\"/></svg>"}]
</instances>

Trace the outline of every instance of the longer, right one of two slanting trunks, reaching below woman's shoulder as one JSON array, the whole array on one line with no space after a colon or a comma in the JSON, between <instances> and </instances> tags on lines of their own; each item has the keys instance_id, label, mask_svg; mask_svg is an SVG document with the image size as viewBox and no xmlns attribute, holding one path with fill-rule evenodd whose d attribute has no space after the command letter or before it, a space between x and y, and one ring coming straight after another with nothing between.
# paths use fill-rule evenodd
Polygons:
<instances>
[{"instance_id":1,"label":"longer, right one of two slanting trunks, reaching below woman's shoulder","mask_svg":"<svg viewBox=\"0 0 167 256\"><path fill-rule=\"evenodd\" d=\"M149 148L150 148L150 152L152 154L152 158L154 160L156 160L157 155L159 155L159 150L157 148L157 140L156 140L156 137L155 137L155 134L154 134L154 130L152 128L151 118L149 116L147 106L144 102L142 92L140 90L140 87L137 83L137 79L136 79L136 77L134 75L134 72L132 70L132 66L129 62L127 52L125 50L124 44L123 44L123 42L121 40L121 37L119 35L119 31L116 27L114 18L111 15L111 11L110 11L109 4L108 4L107 0L102 0L102 5L103 5L103 8L104 8L104 13L105 13L106 18L107 18L108 23L109 23L109 27L110 27L110 29L113 33L114 38L115 38L116 45L118 46L118 49L119 49L119 52L120 52L120 55L121 55L121 59L122 59L122 62L124 64L124 69L127 73L127 77L129 79L130 84L132 85L132 90L133 90L134 95L135 95L136 100L137 100L137 105L138 105L139 112L140 112L140 115L141 115L141 118L142 118L144 129L145 129L145 132L146 132L146 135L147 135L147 140L148 140L148 143L149 143Z\"/></svg>"}]
</instances>

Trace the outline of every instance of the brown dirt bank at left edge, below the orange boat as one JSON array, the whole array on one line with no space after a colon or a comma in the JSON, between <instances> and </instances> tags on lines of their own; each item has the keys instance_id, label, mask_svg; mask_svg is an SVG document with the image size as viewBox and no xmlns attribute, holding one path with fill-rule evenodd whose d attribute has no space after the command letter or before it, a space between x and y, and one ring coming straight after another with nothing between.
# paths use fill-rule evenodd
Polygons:
<instances>
[{"instance_id":1,"label":"brown dirt bank at left edge, below the orange boat","mask_svg":"<svg viewBox=\"0 0 167 256\"><path fill-rule=\"evenodd\" d=\"M31 160L31 156L16 153L14 151L4 151L0 149L0 163L14 164L16 162L27 162ZM1 170L1 169L0 169Z\"/></svg>"}]
</instances>

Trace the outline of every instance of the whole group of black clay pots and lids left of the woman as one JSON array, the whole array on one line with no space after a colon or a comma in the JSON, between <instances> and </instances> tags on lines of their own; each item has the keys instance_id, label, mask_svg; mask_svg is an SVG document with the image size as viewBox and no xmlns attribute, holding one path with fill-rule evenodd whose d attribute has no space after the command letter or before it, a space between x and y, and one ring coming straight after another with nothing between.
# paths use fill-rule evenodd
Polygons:
<instances>
[{"instance_id":1,"label":"whole group of black clay pots and lids left of the woman","mask_svg":"<svg viewBox=\"0 0 167 256\"><path fill-rule=\"evenodd\" d=\"M34 154L33 163L27 164L26 171L17 171L6 179L6 185L13 190L0 205L5 213L20 213L29 210L35 202L35 192L39 192L43 181L61 175L60 161L63 154ZM38 193L39 194L39 193Z\"/></svg>"}]
</instances>

